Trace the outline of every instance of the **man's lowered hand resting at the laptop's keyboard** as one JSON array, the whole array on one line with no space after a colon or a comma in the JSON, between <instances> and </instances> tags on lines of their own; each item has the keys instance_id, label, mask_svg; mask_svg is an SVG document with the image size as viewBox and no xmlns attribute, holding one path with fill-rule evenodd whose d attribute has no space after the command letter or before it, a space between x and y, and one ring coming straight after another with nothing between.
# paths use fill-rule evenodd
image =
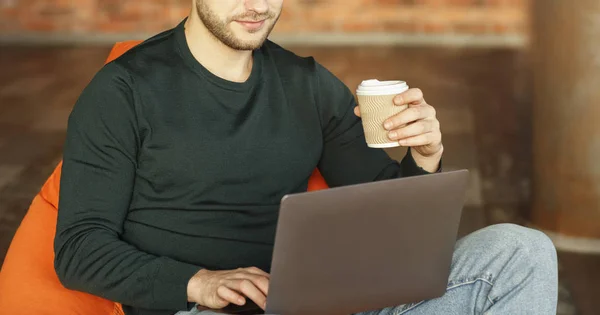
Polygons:
<instances>
[{"instance_id":1,"label":"man's lowered hand resting at the laptop's keyboard","mask_svg":"<svg viewBox=\"0 0 600 315\"><path fill-rule=\"evenodd\" d=\"M263 310L269 293L269 274L256 268L198 271L188 282L188 301L209 309L244 305L251 299Z\"/></svg>"}]
</instances>

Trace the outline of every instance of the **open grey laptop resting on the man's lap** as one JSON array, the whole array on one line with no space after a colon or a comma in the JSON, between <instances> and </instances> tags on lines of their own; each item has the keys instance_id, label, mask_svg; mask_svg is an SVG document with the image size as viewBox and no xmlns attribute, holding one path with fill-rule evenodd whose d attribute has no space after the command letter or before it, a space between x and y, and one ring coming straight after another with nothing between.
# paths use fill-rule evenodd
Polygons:
<instances>
[{"instance_id":1,"label":"open grey laptop resting on the man's lap","mask_svg":"<svg viewBox=\"0 0 600 315\"><path fill-rule=\"evenodd\" d=\"M348 315L442 296L468 171L385 180L282 199L266 311Z\"/></svg>"}]
</instances>

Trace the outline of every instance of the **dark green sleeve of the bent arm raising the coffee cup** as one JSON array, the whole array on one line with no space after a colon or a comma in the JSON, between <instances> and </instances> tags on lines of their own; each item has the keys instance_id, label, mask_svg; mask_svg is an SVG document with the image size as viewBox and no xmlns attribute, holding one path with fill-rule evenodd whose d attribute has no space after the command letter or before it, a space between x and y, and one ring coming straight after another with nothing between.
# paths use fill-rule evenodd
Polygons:
<instances>
[{"instance_id":1,"label":"dark green sleeve of the bent arm raising the coffee cup","mask_svg":"<svg viewBox=\"0 0 600 315\"><path fill-rule=\"evenodd\" d=\"M369 148L362 122L354 115L354 95L319 64L316 74L324 142L319 170L330 186L429 174L415 163L410 150L398 163L383 149Z\"/></svg>"}]
</instances>

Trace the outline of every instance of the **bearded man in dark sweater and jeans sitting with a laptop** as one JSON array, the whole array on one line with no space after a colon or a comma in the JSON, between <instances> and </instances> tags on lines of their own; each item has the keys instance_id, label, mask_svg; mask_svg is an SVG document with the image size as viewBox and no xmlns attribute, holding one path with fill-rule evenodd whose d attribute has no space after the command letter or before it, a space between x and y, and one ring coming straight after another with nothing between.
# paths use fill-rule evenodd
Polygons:
<instances>
[{"instance_id":1,"label":"bearded man in dark sweater and jeans sitting with a laptop","mask_svg":"<svg viewBox=\"0 0 600 315\"><path fill-rule=\"evenodd\" d=\"M266 41L282 5L194 0L189 18L83 91L55 240L66 287L126 314L264 307L280 199L306 190L315 167L331 186L439 170L439 122L421 91L399 95L410 107L385 124L410 148L403 161L368 148L350 90ZM553 314L556 297L551 242L499 225L458 242L446 295L372 314Z\"/></svg>"}]
</instances>

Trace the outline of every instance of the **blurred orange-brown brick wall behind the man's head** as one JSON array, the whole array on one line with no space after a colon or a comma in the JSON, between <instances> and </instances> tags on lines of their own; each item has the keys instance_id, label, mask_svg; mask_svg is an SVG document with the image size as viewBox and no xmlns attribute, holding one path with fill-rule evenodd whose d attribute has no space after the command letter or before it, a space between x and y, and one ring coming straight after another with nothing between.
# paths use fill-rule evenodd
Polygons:
<instances>
[{"instance_id":1,"label":"blurred orange-brown brick wall behind the man's head","mask_svg":"<svg viewBox=\"0 0 600 315\"><path fill-rule=\"evenodd\" d=\"M276 34L523 34L528 0L285 0ZM155 33L191 0L0 0L0 34Z\"/></svg>"}]
</instances>

